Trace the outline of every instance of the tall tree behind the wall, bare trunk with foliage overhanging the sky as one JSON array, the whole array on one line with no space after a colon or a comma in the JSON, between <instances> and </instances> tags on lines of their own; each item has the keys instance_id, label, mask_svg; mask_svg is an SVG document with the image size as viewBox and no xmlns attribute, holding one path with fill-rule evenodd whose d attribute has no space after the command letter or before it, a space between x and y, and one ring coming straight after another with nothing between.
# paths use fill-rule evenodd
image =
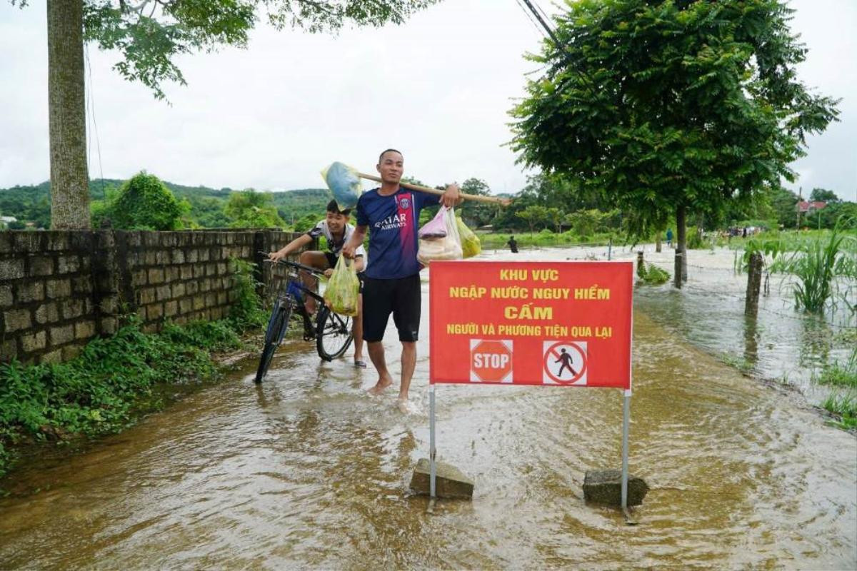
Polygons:
<instances>
[{"instance_id":1,"label":"tall tree behind the wall, bare trunk with foliage overhanging the sky","mask_svg":"<svg viewBox=\"0 0 857 571\"><path fill-rule=\"evenodd\" d=\"M83 42L117 51L114 68L164 98L165 81L184 84L177 57L220 45L247 45L256 21L278 29L335 32L345 24L401 24L439 0L47 0L48 114L52 225L88 228ZM27 5L27 0L11 0Z\"/></svg>"}]
</instances>

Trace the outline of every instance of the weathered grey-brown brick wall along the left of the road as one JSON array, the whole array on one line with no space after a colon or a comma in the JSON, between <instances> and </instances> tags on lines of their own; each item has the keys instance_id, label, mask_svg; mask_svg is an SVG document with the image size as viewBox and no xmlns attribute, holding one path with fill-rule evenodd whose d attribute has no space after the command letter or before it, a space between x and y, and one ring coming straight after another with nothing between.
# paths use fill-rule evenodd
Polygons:
<instances>
[{"instance_id":1,"label":"weathered grey-brown brick wall along the left of the road","mask_svg":"<svg viewBox=\"0 0 857 571\"><path fill-rule=\"evenodd\" d=\"M230 259L255 264L296 235L276 230L0 232L0 360L68 360L117 316L147 330L165 319L223 318L235 300Z\"/></svg>"}]
</instances>

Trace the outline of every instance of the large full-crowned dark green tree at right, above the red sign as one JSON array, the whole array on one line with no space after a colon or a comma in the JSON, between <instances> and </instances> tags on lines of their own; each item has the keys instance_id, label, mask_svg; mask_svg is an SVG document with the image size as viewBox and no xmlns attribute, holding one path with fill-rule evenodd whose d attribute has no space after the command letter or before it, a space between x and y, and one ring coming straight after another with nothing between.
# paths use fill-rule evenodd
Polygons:
<instances>
[{"instance_id":1,"label":"large full-crowned dark green tree at right, above the red sign","mask_svg":"<svg viewBox=\"0 0 857 571\"><path fill-rule=\"evenodd\" d=\"M511 114L512 148L548 173L584 181L632 213L635 235L674 212L716 215L751 201L804 154L836 101L796 79L806 49L779 0L584 0L556 18L560 45Z\"/></svg>"}]
</instances>

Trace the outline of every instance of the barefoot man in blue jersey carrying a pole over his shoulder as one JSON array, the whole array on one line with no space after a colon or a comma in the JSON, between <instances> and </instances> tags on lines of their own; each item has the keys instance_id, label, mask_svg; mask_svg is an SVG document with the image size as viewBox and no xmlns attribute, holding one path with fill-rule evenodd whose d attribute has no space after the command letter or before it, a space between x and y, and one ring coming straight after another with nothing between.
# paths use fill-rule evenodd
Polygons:
<instances>
[{"instance_id":1,"label":"barefoot man in blue jersey carrying a pole over his shoulder","mask_svg":"<svg viewBox=\"0 0 857 571\"><path fill-rule=\"evenodd\" d=\"M357 200L357 228L342 248L353 257L369 229L369 268L363 281L363 339L369 359L378 371L378 382L369 389L379 395L393 384L384 357L384 330L390 313L402 343L402 376L399 409L408 411L408 390L417 366L417 336L420 329L420 277L417 261L417 225L424 206L439 201L446 206L461 201L458 185L446 187L440 200L434 194L399 186L405 172L405 158L395 149L381 153L375 167L381 187L363 193Z\"/></svg>"}]
</instances>

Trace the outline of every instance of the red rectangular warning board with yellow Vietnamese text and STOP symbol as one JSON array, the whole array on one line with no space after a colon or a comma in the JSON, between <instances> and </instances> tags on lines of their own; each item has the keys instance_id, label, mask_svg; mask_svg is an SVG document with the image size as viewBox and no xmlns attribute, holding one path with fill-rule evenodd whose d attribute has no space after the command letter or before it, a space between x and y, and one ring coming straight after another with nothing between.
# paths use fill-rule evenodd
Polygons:
<instances>
[{"instance_id":1,"label":"red rectangular warning board with yellow Vietnamese text and STOP symbol","mask_svg":"<svg viewBox=\"0 0 857 571\"><path fill-rule=\"evenodd\" d=\"M434 261L431 383L631 388L632 262Z\"/></svg>"}]
</instances>

